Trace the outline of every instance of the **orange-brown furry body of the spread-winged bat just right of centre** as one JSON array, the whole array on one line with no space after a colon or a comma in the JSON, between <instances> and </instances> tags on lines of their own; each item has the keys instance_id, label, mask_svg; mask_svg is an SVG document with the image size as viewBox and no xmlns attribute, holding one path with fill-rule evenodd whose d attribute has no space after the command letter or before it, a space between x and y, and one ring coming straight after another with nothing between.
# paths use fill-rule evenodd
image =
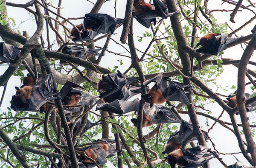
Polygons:
<instances>
[{"instance_id":1,"label":"orange-brown furry body of the spread-winged bat just right of centre","mask_svg":"<svg viewBox=\"0 0 256 168\"><path fill-rule=\"evenodd\" d=\"M150 98L145 98L145 96L143 96L145 102L150 104L153 104L153 103L162 104L166 102L166 99L163 97L161 90L160 89L156 90L156 87L157 86L155 84L154 87L152 87L149 90L148 94L146 94L146 96Z\"/></svg>"}]
</instances>

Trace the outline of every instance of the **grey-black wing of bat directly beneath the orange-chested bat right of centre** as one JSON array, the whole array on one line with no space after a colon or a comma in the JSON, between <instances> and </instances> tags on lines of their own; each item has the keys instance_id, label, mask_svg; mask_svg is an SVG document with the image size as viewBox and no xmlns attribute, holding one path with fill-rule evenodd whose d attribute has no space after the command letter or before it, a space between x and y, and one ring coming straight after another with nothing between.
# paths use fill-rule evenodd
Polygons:
<instances>
[{"instance_id":1,"label":"grey-black wing of bat directly beneath the orange-chested bat right of centre","mask_svg":"<svg viewBox=\"0 0 256 168\"><path fill-rule=\"evenodd\" d=\"M166 106L156 105L157 110L152 120L154 123L180 123L180 119Z\"/></svg>"}]
</instances>

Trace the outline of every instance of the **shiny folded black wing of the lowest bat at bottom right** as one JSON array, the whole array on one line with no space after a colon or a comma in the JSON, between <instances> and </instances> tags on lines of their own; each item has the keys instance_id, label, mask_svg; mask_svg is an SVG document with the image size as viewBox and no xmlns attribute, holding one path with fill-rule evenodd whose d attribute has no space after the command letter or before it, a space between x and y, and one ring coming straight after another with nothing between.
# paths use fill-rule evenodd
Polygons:
<instances>
[{"instance_id":1,"label":"shiny folded black wing of the lowest bat at bottom right","mask_svg":"<svg viewBox=\"0 0 256 168\"><path fill-rule=\"evenodd\" d=\"M207 152L206 146L197 146L195 148L183 149L183 159L189 162L188 165L182 168L198 168L208 160L214 158L211 153Z\"/></svg>"}]
</instances>

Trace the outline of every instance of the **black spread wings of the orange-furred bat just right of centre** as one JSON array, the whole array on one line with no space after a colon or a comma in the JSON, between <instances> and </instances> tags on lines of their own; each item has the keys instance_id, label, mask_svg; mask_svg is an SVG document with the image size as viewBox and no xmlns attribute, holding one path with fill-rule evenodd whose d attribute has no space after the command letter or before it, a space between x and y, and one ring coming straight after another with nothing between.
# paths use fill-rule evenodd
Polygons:
<instances>
[{"instance_id":1,"label":"black spread wings of the orange-furred bat just right of centre","mask_svg":"<svg viewBox=\"0 0 256 168\"><path fill-rule=\"evenodd\" d=\"M154 78L143 82L144 87L146 87L151 82L156 82L156 89L161 90L162 95L166 101L180 101L186 105L190 104L186 94L191 94L191 92L184 92L183 89L189 88L191 85L172 81L168 77L164 77L163 73L157 74L157 76Z\"/></svg>"}]
</instances>

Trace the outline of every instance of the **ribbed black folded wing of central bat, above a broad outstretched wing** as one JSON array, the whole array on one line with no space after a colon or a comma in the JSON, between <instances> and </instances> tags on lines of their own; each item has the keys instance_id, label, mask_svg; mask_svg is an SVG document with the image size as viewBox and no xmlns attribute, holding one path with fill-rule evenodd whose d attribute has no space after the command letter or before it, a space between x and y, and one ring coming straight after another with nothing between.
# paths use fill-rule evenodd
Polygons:
<instances>
[{"instance_id":1,"label":"ribbed black folded wing of central bat, above a broad outstretched wing","mask_svg":"<svg viewBox=\"0 0 256 168\"><path fill-rule=\"evenodd\" d=\"M102 92L99 98L106 98L109 95L121 90L127 84L126 77L118 70L117 73L102 76L103 81L107 82L112 88Z\"/></svg>"}]
</instances>

